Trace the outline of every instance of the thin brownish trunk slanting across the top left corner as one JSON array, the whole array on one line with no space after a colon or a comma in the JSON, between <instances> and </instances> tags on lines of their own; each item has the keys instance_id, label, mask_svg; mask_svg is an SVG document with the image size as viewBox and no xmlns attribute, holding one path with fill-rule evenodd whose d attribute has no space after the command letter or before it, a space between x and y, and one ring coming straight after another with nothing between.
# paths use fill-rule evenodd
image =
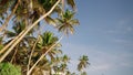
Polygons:
<instances>
[{"instance_id":1,"label":"thin brownish trunk slanting across the top left corner","mask_svg":"<svg viewBox=\"0 0 133 75\"><path fill-rule=\"evenodd\" d=\"M4 23L2 24L2 26L0 26L0 32L2 32L2 31L6 29L6 26L8 25L10 19L11 19L12 15L14 14L14 12L17 11L17 8L18 8L18 6L19 6L19 2L20 2L20 0L18 0L16 7L14 7L14 9L13 9L13 11L12 11L11 14L6 19L6 21L4 21Z\"/></svg>"}]
</instances>

